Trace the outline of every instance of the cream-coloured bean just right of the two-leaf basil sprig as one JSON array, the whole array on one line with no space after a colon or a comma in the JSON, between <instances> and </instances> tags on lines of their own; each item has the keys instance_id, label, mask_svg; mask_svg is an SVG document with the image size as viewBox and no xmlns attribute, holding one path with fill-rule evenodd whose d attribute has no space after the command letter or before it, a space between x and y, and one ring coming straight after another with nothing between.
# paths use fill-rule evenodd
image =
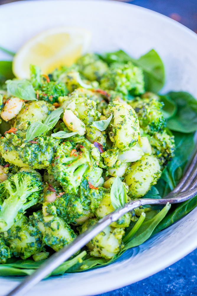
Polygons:
<instances>
[{"instance_id":1,"label":"cream-coloured bean just right of the two-leaf basil sprig","mask_svg":"<svg viewBox=\"0 0 197 296\"><path fill-rule=\"evenodd\" d=\"M84 123L71 110L64 111L63 121L70 131L78 131L80 136L86 133Z\"/></svg>"}]
</instances>

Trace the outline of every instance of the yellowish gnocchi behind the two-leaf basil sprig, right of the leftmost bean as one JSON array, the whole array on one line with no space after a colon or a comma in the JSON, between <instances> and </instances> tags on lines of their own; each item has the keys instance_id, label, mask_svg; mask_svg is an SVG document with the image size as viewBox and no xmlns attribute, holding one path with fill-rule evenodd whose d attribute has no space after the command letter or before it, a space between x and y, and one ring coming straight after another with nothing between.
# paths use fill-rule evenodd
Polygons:
<instances>
[{"instance_id":1,"label":"yellowish gnocchi behind the two-leaf basil sprig, right of the leftmost bean","mask_svg":"<svg viewBox=\"0 0 197 296\"><path fill-rule=\"evenodd\" d=\"M22 122L43 122L48 114L53 111L53 106L45 101L27 102L19 114L13 119L13 126L18 128Z\"/></svg>"}]
</instances>

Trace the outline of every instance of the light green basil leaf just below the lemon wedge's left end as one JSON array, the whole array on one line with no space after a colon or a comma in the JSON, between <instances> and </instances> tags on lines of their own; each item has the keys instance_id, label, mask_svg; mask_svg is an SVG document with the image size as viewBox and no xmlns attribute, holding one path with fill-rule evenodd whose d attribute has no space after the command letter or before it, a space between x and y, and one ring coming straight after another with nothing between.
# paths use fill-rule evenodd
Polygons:
<instances>
[{"instance_id":1,"label":"light green basil leaf just below the lemon wedge's left end","mask_svg":"<svg viewBox=\"0 0 197 296\"><path fill-rule=\"evenodd\" d=\"M36 100L35 90L32 84L26 80L6 80L7 91L22 100Z\"/></svg>"}]
</instances>

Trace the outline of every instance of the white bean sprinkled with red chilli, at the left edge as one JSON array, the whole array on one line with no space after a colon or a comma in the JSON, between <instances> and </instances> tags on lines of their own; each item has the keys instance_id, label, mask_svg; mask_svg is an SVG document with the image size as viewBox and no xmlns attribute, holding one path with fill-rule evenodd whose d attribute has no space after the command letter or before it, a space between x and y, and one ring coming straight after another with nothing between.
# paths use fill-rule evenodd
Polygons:
<instances>
[{"instance_id":1,"label":"white bean sprinkled with red chilli, at the left edge","mask_svg":"<svg viewBox=\"0 0 197 296\"><path fill-rule=\"evenodd\" d=\"M1 118L5 121L14 118L22 109L23 102L22 99L16 97L9 99L1 111Z\"/></svg>"}]
</instances>

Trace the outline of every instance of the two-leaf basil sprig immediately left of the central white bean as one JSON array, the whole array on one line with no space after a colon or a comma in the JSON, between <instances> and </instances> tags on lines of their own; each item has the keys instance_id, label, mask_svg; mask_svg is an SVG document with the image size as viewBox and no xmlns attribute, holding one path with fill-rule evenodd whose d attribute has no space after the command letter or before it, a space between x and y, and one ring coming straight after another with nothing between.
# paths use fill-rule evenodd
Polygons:
<instances>
[{"instance_id":1,"label":"two-leaf basil sprig immediately left of the central white bean","mask_svg":"<svg viewBox=\"0 0 197 296\"><path fill-rule=\"evenodd\" d=\"M30 124L26 133L26 140L29 142L34 138L40 136L42 133L45 135L48 131L50 131L51 128L56 125L62 112L64 112L63 108L57 108L47 116L47 118L44 120L44 123L34 122Z\"/></svg>"}]
</instances>

